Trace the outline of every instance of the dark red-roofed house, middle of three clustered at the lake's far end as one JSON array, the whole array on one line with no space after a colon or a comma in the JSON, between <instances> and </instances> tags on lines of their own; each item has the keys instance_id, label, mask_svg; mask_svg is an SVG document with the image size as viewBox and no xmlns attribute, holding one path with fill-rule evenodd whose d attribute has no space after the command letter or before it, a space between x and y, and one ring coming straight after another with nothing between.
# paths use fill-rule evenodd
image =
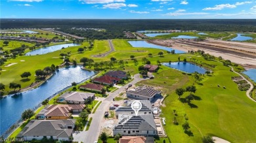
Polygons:
<instances>
[{"instance_id":1,"label":"dark red-roofed house, middle of three clustered at the lake's far end","mask_svg":"<svg viewBox=\"0 0 256 143\"><path fill-rule=\"evenodd\" d=\"M121 78L116 78L108 75L97 77L93 80L96 84L104 84L108 86L114 86L117 82L119 82Z\"/></svg>"}]
</instances>

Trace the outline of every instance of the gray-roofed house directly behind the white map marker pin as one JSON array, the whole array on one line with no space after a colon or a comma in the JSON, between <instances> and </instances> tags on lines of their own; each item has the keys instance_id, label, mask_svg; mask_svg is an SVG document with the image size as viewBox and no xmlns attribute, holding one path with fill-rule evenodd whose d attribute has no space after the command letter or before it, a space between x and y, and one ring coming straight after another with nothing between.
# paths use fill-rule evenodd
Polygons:
<instances>
[{"instance_id":1,"label":"gray-roofed house directly behind the white map marker pin","mask_svg":"<svg viewBox=\"0 0 256 143\"><path fill-rule=\"evenodd\" d=\"M133 101L125 101L125 106L119 106L116 109L116 118L118 118L119 114L127 114L127 115L135 115L135 111L131 108L131 103ZM152 105L148 100L140 100L142 104L141 109L139 110L138 114L153 114Z\"/></svg>"}]
</instances>

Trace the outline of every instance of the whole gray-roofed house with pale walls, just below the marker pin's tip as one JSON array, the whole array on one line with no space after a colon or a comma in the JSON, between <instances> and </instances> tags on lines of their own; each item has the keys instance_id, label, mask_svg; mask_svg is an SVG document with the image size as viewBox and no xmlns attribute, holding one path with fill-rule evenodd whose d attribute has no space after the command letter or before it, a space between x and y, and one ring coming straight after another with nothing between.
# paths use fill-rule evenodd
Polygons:
<instances>
[{"instance_id":1,"label":"whole gray-roofed house with pale walls, just below the marker pin's tip","mask_svg":"<svg viewBox=\"0 0 256 143\"><path fill-rule=\"evenodd\" d=\"M158 134L152 114L138 116L119 114L118 124L113 129L113 135L118 133L123 136L154 136Z\"/></svg>"}]
</instances>

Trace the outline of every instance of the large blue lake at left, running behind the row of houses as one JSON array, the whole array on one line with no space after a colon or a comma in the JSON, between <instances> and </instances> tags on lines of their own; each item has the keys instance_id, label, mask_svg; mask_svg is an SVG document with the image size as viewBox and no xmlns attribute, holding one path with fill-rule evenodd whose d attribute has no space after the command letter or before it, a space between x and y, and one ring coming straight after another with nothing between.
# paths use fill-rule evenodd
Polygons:
<instances>
[{"instance_id":1,"label":"large blue lake at left, running behind the row of houses","mask_svg":"<svg viewBox=\"0 0 256 143\"><path fill-rule=\"evenodd\" d=\"M21 114L24 110L35 108L35 106L42 103L42 101L48 97L71 86L72 82L79 83L93 75L95 75L94 71L85 71L81 69L81 67L63 68L56 71L56 74L54 74L48 82L45 82L45 84L36 89L26 91L21 95L9 95L0 99L0 135L5 133L11 125L21 118Z\"/></svg>"}]
</instances>

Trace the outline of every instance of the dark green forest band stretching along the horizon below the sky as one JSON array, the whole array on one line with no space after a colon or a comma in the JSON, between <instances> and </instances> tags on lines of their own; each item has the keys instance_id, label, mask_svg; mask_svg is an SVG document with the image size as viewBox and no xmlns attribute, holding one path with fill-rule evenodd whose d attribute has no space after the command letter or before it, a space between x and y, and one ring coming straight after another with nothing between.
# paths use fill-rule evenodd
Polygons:
<instances>
[{"instance_id":1,"label":"dark green forest band stretching along the horizon below the sky","mask_svg":"<svg viewBox=\"0 0 256 143\"><path fill-rule=\"evenodd\" d=\"M88 39L122 39L123 31L145 29L177 29L182 31L237 31L256 32L256 20L53 20L53 19L1 19L1 29L60 28L59 31ZM72 27L102 28L78 31Z\"/></svg>"}]
</instances>

